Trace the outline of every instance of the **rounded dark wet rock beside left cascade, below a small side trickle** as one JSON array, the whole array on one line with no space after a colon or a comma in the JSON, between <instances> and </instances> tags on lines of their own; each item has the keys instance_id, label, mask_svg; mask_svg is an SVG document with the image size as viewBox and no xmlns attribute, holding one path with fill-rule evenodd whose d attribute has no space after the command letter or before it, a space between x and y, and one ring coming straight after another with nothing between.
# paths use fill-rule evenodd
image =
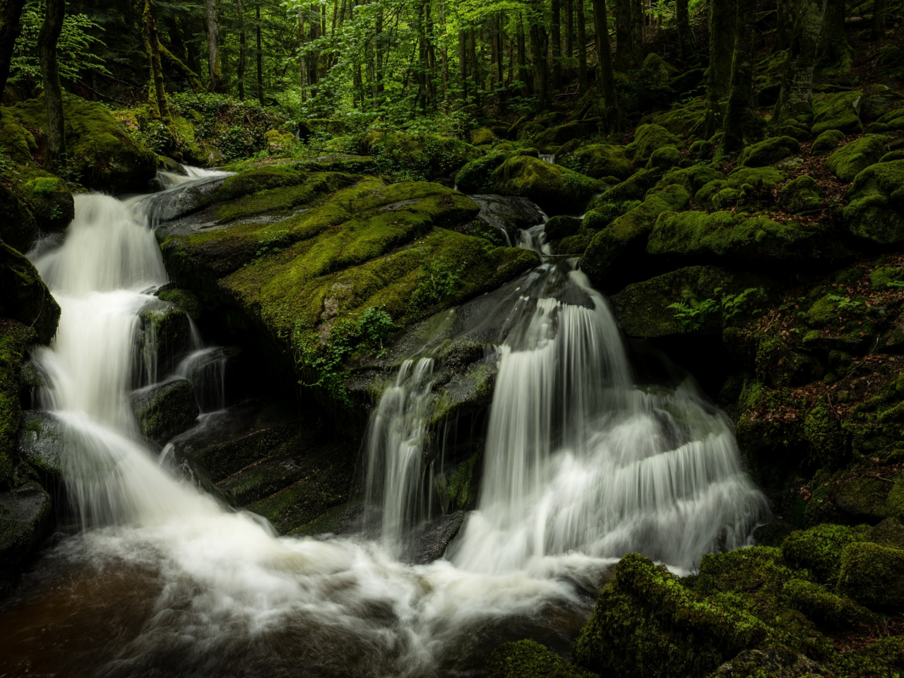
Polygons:
<instances>
[{"instance_id":1,"label":"rounded dark wet rock beside left cascade, below a small side trickle","mask_svg":"<svg viewBox=\"0 0 904 678\"><path fill-rule=\"evenodd\" d=\"M136 391L130 401L141 435L156 443L165 443L191 428L198 416L194 388L187 379Z\"/></svg>"}]
</instances>

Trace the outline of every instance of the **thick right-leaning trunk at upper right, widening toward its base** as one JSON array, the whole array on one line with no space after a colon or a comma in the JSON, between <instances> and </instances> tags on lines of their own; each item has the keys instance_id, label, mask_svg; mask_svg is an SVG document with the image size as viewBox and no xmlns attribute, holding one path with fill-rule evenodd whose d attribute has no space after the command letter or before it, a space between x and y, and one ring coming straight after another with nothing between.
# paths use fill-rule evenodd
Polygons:
<instances>
[{"instance_id":1,"label":"thick right-leaning trunk at upper right, widening toward its base","mask_svg":"<svg viewBox=\"0 0 904 678\"><path fill-rule=\"evenodd\" d=\"M813 71L826 0L800 0L782 89L773 119L810 118L813 113Z\"/></svg>"}]
</instances>

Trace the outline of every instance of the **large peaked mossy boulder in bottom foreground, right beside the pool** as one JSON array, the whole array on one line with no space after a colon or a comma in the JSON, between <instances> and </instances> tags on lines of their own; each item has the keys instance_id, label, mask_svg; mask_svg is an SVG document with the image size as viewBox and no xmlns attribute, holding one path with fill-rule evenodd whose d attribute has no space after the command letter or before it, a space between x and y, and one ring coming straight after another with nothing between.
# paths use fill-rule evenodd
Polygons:
<instances>
[{"instance_id":1,"label":"large peaked mossy boulder in bottom foreground, right beside the pool","mask_svg":"<svg viewBox=\"0 0 904 678\"><path fill-rule=\"evenodd\" d=\"M573 661L603 675L692 678L766 635L756 617L701 598L663 566L629 554L581 629Z\"/></svg>"}]
</instances>

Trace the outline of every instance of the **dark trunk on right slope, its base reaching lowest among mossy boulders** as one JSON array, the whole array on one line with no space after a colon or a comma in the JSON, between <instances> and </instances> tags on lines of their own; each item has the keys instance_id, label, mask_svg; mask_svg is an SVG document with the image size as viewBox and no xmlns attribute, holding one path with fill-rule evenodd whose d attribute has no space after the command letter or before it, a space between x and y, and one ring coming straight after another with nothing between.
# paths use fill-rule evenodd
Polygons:
<instances>
[{"instance_id":1,"label":"dark trunk on right slope, its base reaching lowest among mossy boulders","mask_svg":"<svg viewBox=\"0 0 904 678\"><path fill-rule=\"evenodd\" d=\"M735 23L735 49L731 63L731 89L725 110L725 134L722 151L739 153L744 139L754 137L757 131L753 112L753 35L757 16L757 0L738 0Z\"/></svg>"}]
</instances>

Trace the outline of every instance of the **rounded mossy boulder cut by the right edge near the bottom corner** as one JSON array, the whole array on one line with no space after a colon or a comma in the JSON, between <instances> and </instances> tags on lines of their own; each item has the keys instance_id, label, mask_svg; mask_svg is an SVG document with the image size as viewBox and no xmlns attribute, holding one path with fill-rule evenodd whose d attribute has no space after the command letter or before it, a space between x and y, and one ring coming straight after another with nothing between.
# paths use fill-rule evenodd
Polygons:
<instances>
[{"instance_id":1,"label":"rounded mossy boulder cut by the right edge near the bottom corner","mask_svg":"<svg viewBox=\"0 0 904 678\"><path fill-rule=\"evenodd\" d=\"M870 541L848 544L841 553L838 589L863 605L904 605L904 551Z\"/></svg>"}]
</instances>

